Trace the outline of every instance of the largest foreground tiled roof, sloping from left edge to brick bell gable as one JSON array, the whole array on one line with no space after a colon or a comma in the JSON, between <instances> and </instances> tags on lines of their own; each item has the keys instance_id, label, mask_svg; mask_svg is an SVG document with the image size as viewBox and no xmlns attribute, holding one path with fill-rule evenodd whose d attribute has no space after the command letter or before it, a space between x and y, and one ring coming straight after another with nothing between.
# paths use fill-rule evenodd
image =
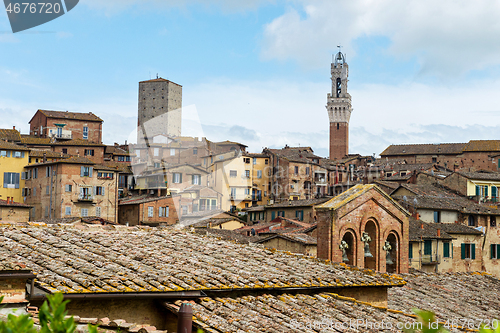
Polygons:
<instances>
[{"instance_id":1,"label":"largest foreground tiled roof, sloping from left edge to brick bell gable","mask_svg":"<svg viewBox=\"0 0 500 333\"><path fill-rule=\"evenodd\" d=\"M168 229L1 227L0 251L15 254L14 260L37 274L35 284L49 292L404 285L394 275Z\"/></svg>"}]
</instances>

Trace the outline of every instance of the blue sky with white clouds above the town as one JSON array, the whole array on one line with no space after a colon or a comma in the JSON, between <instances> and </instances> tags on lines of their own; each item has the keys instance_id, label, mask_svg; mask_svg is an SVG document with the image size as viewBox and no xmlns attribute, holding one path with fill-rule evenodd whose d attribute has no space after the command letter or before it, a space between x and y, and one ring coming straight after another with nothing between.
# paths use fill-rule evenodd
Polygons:
<instances>
[{"instance_id":1,"label":"blue sky with white clouds above the town","mask_svg":"<svg viewBox=\"0 0 500 333\"><path fill-rule=\"evenodd\" d=\"M0 128L93 112L133 138L138 82L183 86L183 135L328 156L332 54L349 64L350 153L499 139L496 0L80 0L12 33L0 14ZM188 126L198 123L199 126Z\"/></svg>"}]
</instances>

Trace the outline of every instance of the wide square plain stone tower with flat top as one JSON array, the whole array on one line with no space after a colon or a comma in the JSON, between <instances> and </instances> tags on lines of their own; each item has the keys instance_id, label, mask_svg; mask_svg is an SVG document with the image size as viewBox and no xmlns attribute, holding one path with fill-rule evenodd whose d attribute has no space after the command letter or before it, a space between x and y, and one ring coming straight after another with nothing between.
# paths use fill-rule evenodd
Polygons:
<instances>
[{"instance_id":1,"label":"wide square plain stone tower with flat top","mask_svg":"<svg viewBox=\"0 0 500 333\"><path fill-rule=\"evenodd\" d=\"M139 82L137 115L137 143L144 142L143 130L149 139L159 134L180 136L182 86L161 77Z\"/></svg>"}]
</instances>

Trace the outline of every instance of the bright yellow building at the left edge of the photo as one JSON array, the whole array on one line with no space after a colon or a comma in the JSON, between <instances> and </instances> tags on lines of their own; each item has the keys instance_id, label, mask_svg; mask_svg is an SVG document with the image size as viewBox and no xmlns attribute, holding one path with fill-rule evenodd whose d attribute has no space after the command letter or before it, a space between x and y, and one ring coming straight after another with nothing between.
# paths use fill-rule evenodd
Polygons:
<instances>
[{"instance_id":1,"label":"bright yellow building at the left edge of the photo","mask_svg":"<svg viewBox=\"0 0 500 333\"><path fill-rule=\"evenodd\" d=\"M29 149L13 143L0 141L0 199L13 198L14 202L24 203L24 166L28 164ZM12 199L11 199L12 200Z\"/></svg>"}]
</instances>

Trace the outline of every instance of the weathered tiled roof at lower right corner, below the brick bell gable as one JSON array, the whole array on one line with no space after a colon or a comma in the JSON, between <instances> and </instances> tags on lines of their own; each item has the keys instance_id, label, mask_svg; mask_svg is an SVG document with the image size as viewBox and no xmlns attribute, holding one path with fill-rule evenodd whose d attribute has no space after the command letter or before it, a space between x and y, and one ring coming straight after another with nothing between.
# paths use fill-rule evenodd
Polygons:
<instances>
[{"instance_id":1,"label":"weathered tiled roof at lower right corner, below the brick bell gable","mask_svg":"<svg viewBox=\"0 0 500 333\"><path fill-rule=\"evenodd\" d=\"M441 322L500 318L500 280L481 273L422 273L401 275L408 284L389 288L389 308L410 313L431 310ZM464 325L467 328L467 325ZM477 326L475 326L477 328Z\"/></svg>"}]
</instances>

